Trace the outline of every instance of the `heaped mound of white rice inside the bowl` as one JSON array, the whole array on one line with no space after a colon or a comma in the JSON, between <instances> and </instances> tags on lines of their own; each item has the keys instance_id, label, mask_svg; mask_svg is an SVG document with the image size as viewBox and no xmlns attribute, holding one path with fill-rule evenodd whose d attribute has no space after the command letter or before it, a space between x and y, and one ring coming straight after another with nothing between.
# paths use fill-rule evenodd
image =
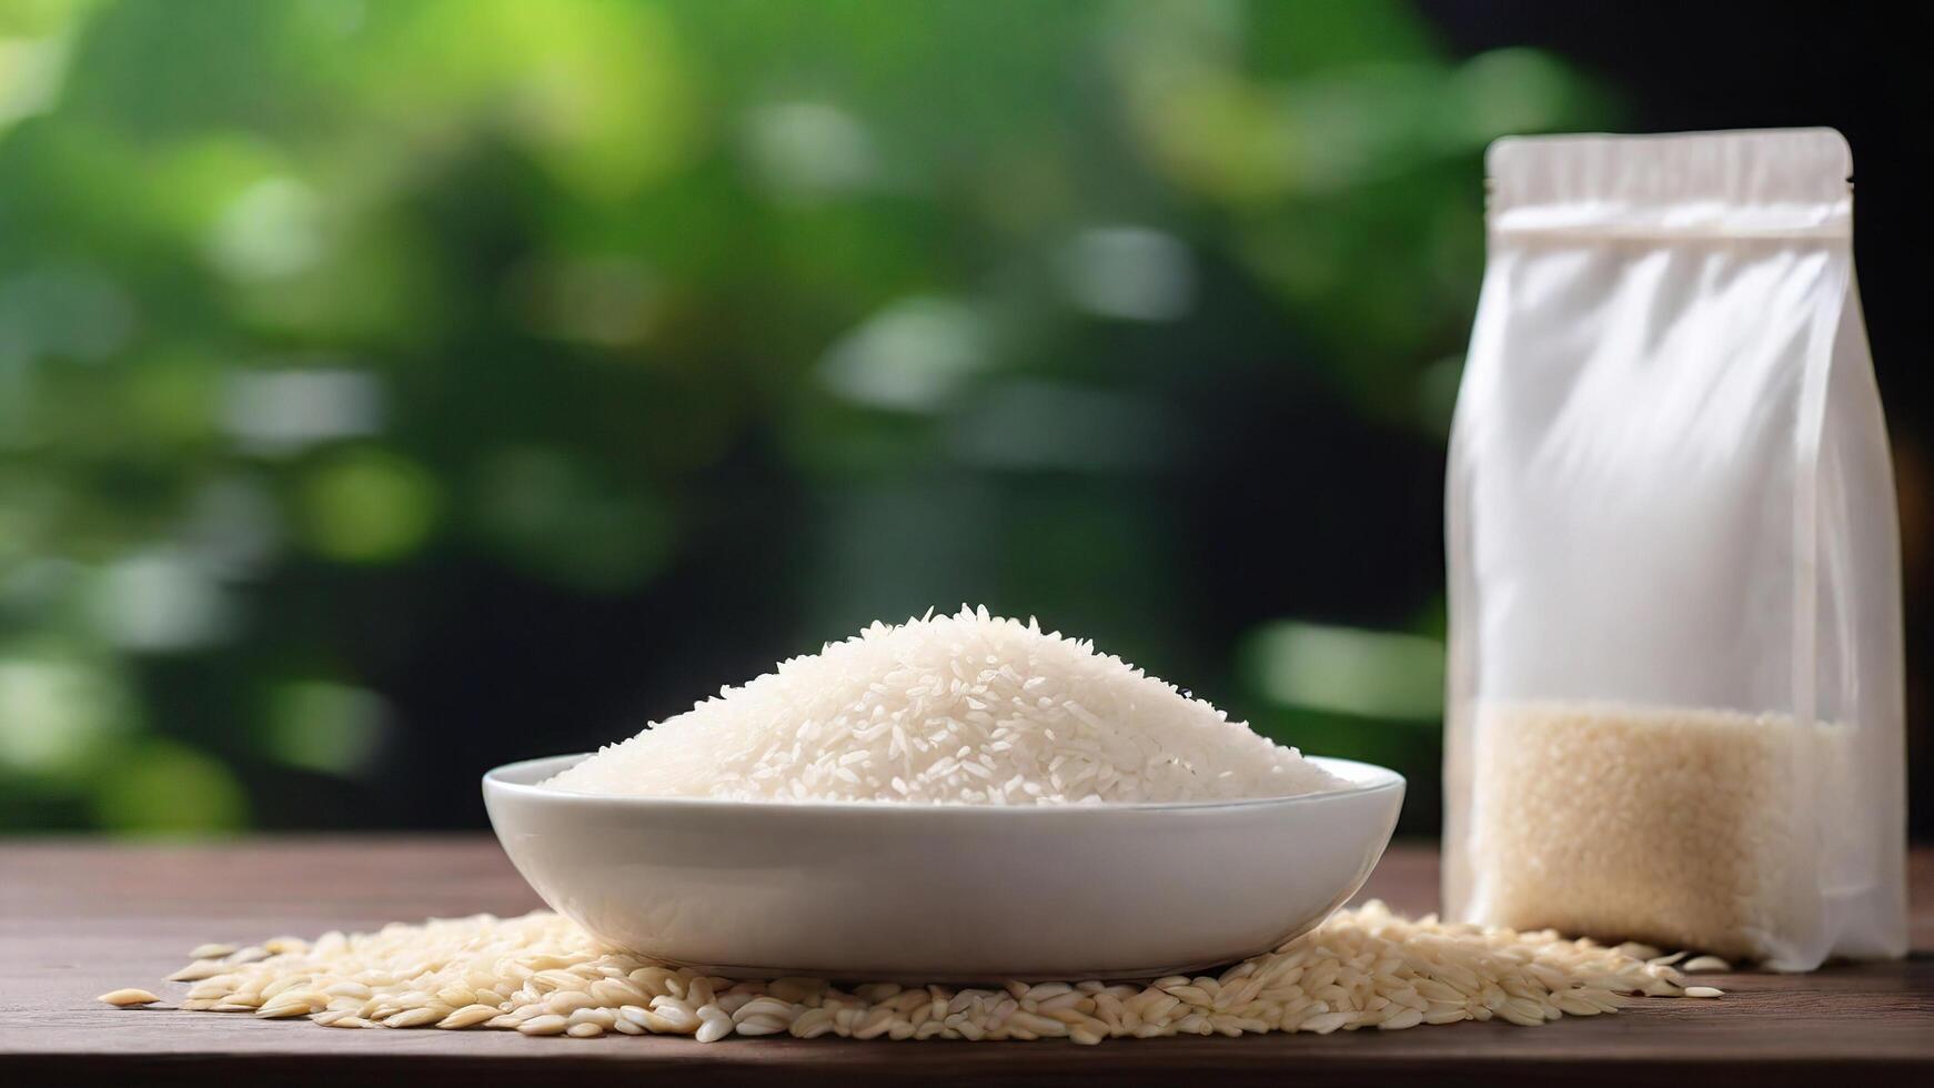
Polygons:
<instances>
[{"instance_id":1,"label":"heaped mound of white rice inside the bowl","mask_svg":"<svg viewBox=\"0 0 1934 1088\"><path fill-rule=\"evenodd\" d=\"M549 779L623 796L1120 804L1340 787L1093 644L963 607L872 624Z\"/></svg>"}]
</instances>

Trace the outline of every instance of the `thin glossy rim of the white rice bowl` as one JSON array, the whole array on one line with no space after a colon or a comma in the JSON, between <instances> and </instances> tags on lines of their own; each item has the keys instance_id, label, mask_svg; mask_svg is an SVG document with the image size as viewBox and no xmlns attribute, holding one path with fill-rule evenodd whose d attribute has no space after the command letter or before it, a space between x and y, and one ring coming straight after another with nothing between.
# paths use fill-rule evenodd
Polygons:
<instances>
[{"instance_id":1,"label":"thin glossy rim of the white rice bowl","mask_svg":"<svg viewBox=\"0 0 1934 1088\"><path fill-rule=\"evenodd\" d=\"M1226 812L1226 810L1251 810L1251 808L1271 808L1271 806L1298 806L1298 804L1323 804L1325 800L1338 800L1346 796L1369 796L1379 792L1398 790L1402 792L1408 785L1404 775L1379 767L1377 763L1365 763L1362 759L1340 759L1336 756L1304 756L1317 767L1344 779L1342 788L1317 790L1307 794L1290 796L1249 796L1249 798L1218 798L1218 800L1166 800L1166 802L1102 802L1102 804L901 804L892 800L729 800L729 798L698 798L698 796L627 796L627 794L588 794L578 790L561 790L553 787L538 785L536 781L514 781L514 779L534 779L549 777L565 767L574 765L580 759L590 758L592 752L572 752L565 756L538 756L534 759L518 759L514 763L503 763L501 767L491 767L484 773L484 794L485 798L493 792L518 796L526 800L538 800L547 804L571 804L571 806L619 806L638 812L692 812L692 814L789 814L789 816L808 816L808 814L950 814L950 816L988 816L988 817L1021 817L1033 816L1040 817L1081 817L1083 814L1143 814L1143 812ZM542 775L540 775L542 771Z\"/></svg>"}]
</instances>

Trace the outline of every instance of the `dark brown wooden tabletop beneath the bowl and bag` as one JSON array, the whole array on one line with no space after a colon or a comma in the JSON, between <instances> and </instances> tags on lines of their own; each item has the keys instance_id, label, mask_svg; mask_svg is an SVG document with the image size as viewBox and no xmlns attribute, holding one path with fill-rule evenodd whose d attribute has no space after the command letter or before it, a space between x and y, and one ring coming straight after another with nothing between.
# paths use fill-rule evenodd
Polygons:
<instances>
[{"instance_id":1,"label":"dark brown wooden tabletop beneath the bowl and bag","mask_svg":"<svg viewBox=\"0 0 1934 1088\"><path fill-rule=\"evenodd\" d=\"M1541 1028L1505 1022L1338 1032L1114 1040L1099 1047L843 1040L524 1038L514 1032L315 1028L168 1009L110 1009L97 993L159 980L201 941L313 935L429 914L514 914L536 899L497 845L451 839L255 839L217 846L0 843L0 1084L478 1084L601 1074L667 1084L1095 1082L1164 1086L1934 1082L1934 852L1913 862L1917 953L1808 976L1712 976L1721 1001L1657 1001ZM1435 902L1437 858L1394 848L1365 895ZM536 1078L545 1080L536 1080Z\"/></svg>"}]
</instances>

